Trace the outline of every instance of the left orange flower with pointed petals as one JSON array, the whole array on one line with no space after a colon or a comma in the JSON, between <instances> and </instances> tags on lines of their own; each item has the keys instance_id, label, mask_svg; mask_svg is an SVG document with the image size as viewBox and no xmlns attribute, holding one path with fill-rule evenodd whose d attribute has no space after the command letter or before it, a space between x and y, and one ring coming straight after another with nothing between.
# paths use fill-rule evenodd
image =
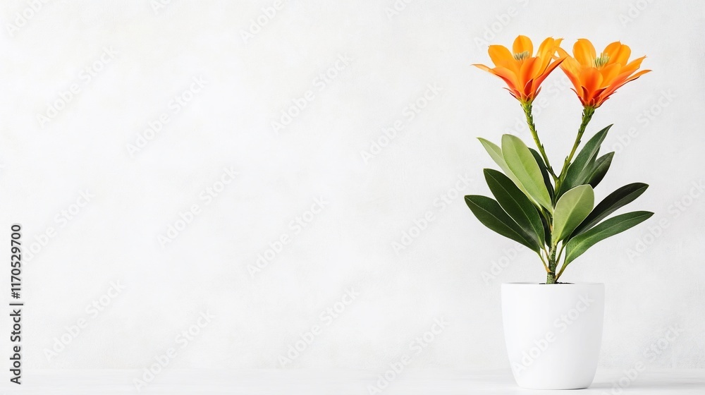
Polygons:
<instances>
[{"instance_id":1,"label":"left orange flower with pointed petals","mask_svg":"<svg viewBox=\"0 0 705 395\"><path fill-rule=\"evenodd\" d=\"M541 42L536 56L531 39L519 36L514 40L512 51L502 45L490 45L489 57L494 62L494 68L484 64L474 64L502 78L508 85L507 90L522 103L531 103L541 90L541 83L563 59L554 59L554 54L562 39L548 37Z\"/></svg>"}]
</instances>

